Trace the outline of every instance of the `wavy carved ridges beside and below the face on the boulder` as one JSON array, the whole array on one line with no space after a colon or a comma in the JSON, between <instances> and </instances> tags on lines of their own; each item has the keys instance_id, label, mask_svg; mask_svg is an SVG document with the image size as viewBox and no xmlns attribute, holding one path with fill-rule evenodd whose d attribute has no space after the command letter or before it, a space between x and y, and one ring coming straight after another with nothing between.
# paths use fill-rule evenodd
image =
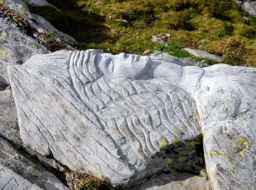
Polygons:
<instances>
[{"instance_id":1,"label":"wavy carved ridges beside and below the face on the boulder","mask_svg":"<svg viewBox=\"0 0 256 190\"><path fill-rule=\"evenodd\" d=\"M99 68L97 59L100 58L90 51L72 53L69 74L80 99L95 113L99 121L97 127L110 134L117 145L121 146L122 141L129 140L132 143L131 151L140 159L148 159L162 146L161 140L180 139L182 136L191 139L198 132L197 123L193 123L185 111L185 107L189 107L187 104L192 105L186 102L185 94L176 94L175 87L165 88L160 82L157 88L166 91L158 94L151 89L150 83L127 80L121 81L118 86L102 75L105 71ZM183 126L178 127L180 125ZM157 129L160 126L162 129ZM177 130L180 134L175 133ZM121 154L127 155L124 152Z\"/></svg>"}]
</instances>

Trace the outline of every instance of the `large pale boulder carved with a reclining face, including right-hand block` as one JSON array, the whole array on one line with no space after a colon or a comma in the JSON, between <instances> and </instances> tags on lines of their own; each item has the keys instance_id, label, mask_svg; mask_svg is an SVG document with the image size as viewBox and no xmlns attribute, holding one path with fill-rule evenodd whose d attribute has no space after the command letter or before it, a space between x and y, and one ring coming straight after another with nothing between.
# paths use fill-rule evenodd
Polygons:
<instances>
[{"instance_id":1,"label":"large pale boulder carved with a reclining face, including right-hand block","mask_svg":"<svg viewBox=\"0 0 256 190\"><path fill-rule=\"evenodd\" d=\"M71 170L116 186L192 171L203 134L214 188L255 188L256 69L62 50L9 75L23 142Z\"/></svg>"}]
</instances>

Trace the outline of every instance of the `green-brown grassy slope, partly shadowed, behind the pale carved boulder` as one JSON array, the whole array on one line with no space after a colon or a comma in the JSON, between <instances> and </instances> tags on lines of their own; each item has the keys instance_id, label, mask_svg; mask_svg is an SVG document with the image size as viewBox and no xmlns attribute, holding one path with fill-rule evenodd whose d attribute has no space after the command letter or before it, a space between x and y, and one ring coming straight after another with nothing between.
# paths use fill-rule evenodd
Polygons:
<instances>
[{"instance_id":1,"label":"green-brown grassy slope, partly shadowed, behind the pale carved boulder","mask_svg":"<svg viewBox=\"0 0 256 190\"><path fill-rule=\"evenodd\" d=\"M231 0L48 0L58 7L30 7L80 49L110 53L156 50L151 37L170 34L166 51L187 56L173 45L225 55L225 63L256 66L256 20ZM125 19L128 23L120 20ZM170 45L171 44L173 45ZM168 50L170 49L170 50ZM191 56L189 56L192 58Z\"/></svg>"}]
</instances>

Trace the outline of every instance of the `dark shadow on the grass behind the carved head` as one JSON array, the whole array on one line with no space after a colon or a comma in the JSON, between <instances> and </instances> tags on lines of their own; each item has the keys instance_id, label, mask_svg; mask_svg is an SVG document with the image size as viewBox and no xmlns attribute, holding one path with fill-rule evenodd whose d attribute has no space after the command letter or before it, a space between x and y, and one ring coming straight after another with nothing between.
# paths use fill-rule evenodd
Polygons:
<instances>
[{"instance_id":1,"label":"dark shadow on the grass behind the carved head","mask_svg":"<svg viewBox=\"0 0 256 190\"><path fill-rule=\"evenodd\" d=\"M77 42L83 43L83 48L91 42L95 44L105 40L114 42L115 39L110 35L110 28L102 24L105 18L78 7L77 1L49 0L48 2L55 7L29 6L29 9L32 13L48 20L59 31L69 34Z\"/></svg>"}]
</instances>

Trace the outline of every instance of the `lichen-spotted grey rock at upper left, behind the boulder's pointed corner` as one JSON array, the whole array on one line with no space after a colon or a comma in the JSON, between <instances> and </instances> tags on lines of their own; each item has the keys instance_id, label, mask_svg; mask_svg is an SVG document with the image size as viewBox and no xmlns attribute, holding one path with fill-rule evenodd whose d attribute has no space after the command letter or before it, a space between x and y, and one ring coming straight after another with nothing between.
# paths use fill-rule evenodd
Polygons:
<instances>
[{"instance_id":1,"label":"lichen-spotted grey rock at upper left, behind the boulder's pointed corner","mask_svg":"<svg viewBox=\"0 0 256 190\"><path fill-rule=\"evenodd\" d=\"M23 64L35 54L48 53L37 40L26 34L11 18L0 12L0 75L8 83L7 66ZM3 79L4 78L4 79Z\"/></svg>"}]
</instances>

